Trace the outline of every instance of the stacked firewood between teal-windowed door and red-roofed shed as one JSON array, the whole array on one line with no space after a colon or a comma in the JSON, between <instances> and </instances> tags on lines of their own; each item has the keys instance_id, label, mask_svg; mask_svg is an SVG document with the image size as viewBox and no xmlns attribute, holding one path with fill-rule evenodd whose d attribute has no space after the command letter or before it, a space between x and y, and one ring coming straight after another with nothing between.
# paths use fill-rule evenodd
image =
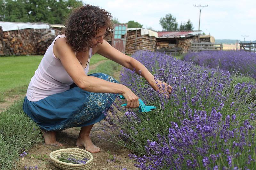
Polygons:
<instances>
[{"instance_id":1,"label":"stacked firewood between teal-windowed door and red-roofed shed","mask_svg":"<svg viewBox=\"0 0 256 170\"><path fill-rule=\"evenodd\" d=\"M138 50L155 51L156 37L149 37L148 35L140 35L140 30L127 31L125 53L133 54Z\"/></svg>"}]
</instances>

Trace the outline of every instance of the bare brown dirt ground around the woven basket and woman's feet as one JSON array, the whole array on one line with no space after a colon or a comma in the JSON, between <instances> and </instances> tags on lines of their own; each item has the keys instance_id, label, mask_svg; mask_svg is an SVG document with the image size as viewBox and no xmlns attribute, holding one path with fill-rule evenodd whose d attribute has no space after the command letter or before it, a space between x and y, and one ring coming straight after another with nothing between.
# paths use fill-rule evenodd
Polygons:
<instances>
[{"instance_id":1,"label":"bare brown dirt ground around the woven basket and woman's feet","mask_svg":"<svg viewBox=\"0 0 256 170\"><path fill-rule=\"evenodd\" d=\"M101 137L106 138L106 133L104 133L102 130L103 127L101 126L101 124L97 123L94 124L90 134L92 142L96 146L100 147L100 152L92 153L92 170L110 170L123 168L129 170L137 169L134 166L134 162L128 157L128 154L131 153L128 149L120 147L111 142L106 142L103 139L99 139L97 137L98 135L100 135ZM59 168L54 166L51 159L49 158L49 154L52 151L58 149L65 149L70 147L81 148L76 146L76 139L78 137L79 131L80 128L74 127L58 132L56 138L59 142L64 144L64 146L49 146L43 143L31 148L28 151L28 155L25 157L25 159L20 159L16 163L16 169L21 170L24 169L25 166L38 166L38 169L40 170L58 170ZM109 153L107 151L109 151ZM109 154L116 156L117 161L109 161Z\"/></svg>"}]
</instances>

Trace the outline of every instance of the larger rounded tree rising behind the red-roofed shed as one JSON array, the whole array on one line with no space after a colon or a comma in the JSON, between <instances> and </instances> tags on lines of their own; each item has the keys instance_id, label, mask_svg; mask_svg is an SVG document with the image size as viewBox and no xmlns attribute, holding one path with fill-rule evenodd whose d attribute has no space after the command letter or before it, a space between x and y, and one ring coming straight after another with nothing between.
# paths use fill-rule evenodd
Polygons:
<instances>
[{"instance_id":1,"label":"larger rounded tree rising behind the red-roofed shed","mask_svg":"<svg viewBox=\"0 0 256 170\"><path fill-rule=\"evenodd\" d=\"M162 26L163 31L177 31L178 23L172 14L166 14L164 18L160 18L159 24Z\"/></svg>"}]
</instances>

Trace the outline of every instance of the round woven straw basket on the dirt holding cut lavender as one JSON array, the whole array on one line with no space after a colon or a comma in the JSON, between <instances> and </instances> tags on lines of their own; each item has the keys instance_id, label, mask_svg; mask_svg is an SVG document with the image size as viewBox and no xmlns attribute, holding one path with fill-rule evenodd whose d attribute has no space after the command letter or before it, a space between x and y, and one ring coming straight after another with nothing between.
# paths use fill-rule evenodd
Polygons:
<instances>
[{"instance_id":1,"label":"round woven straw basket on the dirt holding cut lavender","mask_svg":"<svg viewBox=\"0 0 256 170\"><path fill-rule=\"evenodd\" d=\"M67 163L67 162L62 162L58 160L58 156L61 153L67 153L67 154L72 154L76 158L83 159L87 158L89 159L86 161L86 164L72 164L72 163ZM63 170L89 170L92 168L92 154L84 149L79 149L79 148L68 148L68 149L60 149L57 151L53 151L50 153L50 159L52 160L53 164L57 166L60 169Z\"/></svg>"}]
</instances>

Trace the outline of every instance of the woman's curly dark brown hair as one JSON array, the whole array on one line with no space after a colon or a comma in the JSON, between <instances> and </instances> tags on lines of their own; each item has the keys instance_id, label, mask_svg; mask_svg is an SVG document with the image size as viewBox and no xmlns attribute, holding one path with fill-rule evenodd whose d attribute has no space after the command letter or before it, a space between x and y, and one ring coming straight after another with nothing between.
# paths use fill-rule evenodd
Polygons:
<instances>
[{"instance_id":1,"label":"woman's curly dark brown hair","mask_svg":"<svg viewBox=\"0 0 256 170\"><path fill-rule=\"evenodd\" d=\"M100 28L106 26L104 39L111 37L113 32L111 14L98 6L84 5L72 11L65 22L65 38L67 44L75 52L84 52L92 46Z\"/></svg>"}]
</instances>

